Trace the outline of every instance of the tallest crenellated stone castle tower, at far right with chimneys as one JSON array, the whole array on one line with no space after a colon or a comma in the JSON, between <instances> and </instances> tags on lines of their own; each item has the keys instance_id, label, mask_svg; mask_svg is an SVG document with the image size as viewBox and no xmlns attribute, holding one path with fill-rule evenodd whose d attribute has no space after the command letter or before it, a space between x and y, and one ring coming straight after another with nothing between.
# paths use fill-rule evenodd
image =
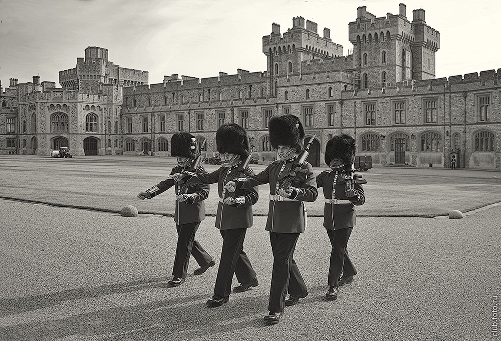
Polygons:
<instances>
[{"instance_id":1,"label":"tallest crenellated stone castle tower, at far right with chimneys","mask_svg":"<svg viewBox=\"0 0 501 341\"><path fill-rule=\"evenodd\" d=\"M367 12L366 6L357 9L357 20L349 24L349 39L360 88L435 78L440 35L426 25L424 10L413 11L413 16L411 23L404 4L399 5L398 15L387 13L381 18Z\"/></svg>"}]
</instances>

